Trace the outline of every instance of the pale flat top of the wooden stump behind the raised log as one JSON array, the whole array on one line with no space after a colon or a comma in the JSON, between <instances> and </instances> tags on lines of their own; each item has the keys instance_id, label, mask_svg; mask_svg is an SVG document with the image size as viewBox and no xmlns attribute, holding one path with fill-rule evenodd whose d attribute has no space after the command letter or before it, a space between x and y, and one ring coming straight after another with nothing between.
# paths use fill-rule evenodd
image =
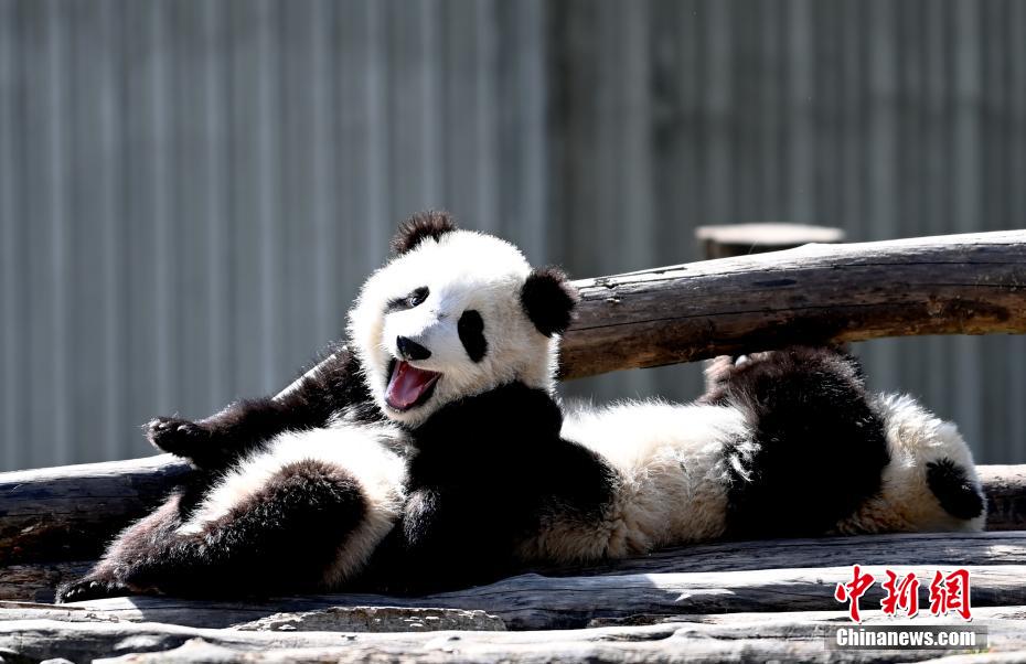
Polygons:
<instances>
[{"instance_id":1,"label":"pale flat top of the wooden stump behind the raised log","mask_svg":"<svg viewBox=\"0 0 1026 664\"><path fill-rule=\"evenodd\" d=\"M704 258L730 258L782 251L812 243L844 242L844 231L809 224L723 224L698 226L695 239Z\"/></svg>"}]
</instances>

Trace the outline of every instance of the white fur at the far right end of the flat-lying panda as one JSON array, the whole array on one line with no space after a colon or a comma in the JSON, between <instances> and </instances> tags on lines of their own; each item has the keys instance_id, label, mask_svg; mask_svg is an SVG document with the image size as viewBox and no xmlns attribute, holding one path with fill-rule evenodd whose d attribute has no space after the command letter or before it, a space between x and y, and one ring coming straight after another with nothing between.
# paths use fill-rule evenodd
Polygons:
<instances>
[{"instance_id":1,"label":"white fur at the far right end of the flat-lying panda","mask_svg":"<svg viewBox=\"0 0 1026 664\"><path fill-rule=\"evenodd\" d=\"M878 395L890 463L880 495L837 524L840 533L982 531L986 514L962 520L941 507L927 484L927 464L950 459L976 486L972 452L954 424L939 419L908 395Z\"/></svg>"}]
</instances>

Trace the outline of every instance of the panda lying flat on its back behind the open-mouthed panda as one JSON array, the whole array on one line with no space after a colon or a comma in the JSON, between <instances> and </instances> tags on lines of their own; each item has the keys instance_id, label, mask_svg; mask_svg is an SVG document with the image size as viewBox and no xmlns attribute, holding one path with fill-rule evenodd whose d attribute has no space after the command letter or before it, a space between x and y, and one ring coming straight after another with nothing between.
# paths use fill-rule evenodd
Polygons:
<instances>
[{"instance_id":1,"label":"panda lying flat on its back behind the open-mouthed panda","mask_svg":"<svg viewBox=\"0 0 1026 664\"><path fill-rule=\"evenodd\" d=\"M855 361L830 349L748 360L693 404L571 410L563 436L594 450L616 489L596 522L543 517L522 545L528 559L724 537L981 531L985 521L954 426L909 397L867 394Z\"/></svg>"}]
</instances>

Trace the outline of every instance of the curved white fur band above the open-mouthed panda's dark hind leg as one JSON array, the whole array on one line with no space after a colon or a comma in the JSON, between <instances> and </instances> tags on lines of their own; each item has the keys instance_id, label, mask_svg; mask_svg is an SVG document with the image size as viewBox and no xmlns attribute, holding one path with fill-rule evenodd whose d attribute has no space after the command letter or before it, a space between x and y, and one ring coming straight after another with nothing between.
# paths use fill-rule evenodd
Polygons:
<instances>
[{"instance_id":1,"label":"curved white fur band above the open-mouthed panda's dark hind leg","mask_svg":"<svg viewBox=\"0 0 1026 664\"><path fill-rule=\"evenodd\" d=\"M366 563L402 512L406 475L402 446L398 431L381 425L340 422L324 429L282 433L265 450L227 471L179 533L204 534L288 465L306 460L335 465L359 480L367 506L365 518L341 544L338 558L325 571L325 583L335 586Z\"/></svg>"}]
</instances>

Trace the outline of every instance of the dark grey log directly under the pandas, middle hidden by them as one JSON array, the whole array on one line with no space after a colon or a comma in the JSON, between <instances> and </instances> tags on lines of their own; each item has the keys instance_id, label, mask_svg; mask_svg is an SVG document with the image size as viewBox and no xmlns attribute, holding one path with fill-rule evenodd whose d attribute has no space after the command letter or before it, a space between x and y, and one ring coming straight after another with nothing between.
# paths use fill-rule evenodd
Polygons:
<instances>
[{"instance_id":1,"label":"dark grey log directly under the pandas, middle hidden by them","mask_svg":"<svg viewBox=\"0 0 1026 664\"><path fill-rule=\"evenodd\" d=\"M861 565L1026 565L1026 532L859 535L810 539L720 542L667 548L600 565L541 569L551 577ZM0 600L49 602L57 583L88 563L0 568Z\"/></svg>"}]
</instances>

